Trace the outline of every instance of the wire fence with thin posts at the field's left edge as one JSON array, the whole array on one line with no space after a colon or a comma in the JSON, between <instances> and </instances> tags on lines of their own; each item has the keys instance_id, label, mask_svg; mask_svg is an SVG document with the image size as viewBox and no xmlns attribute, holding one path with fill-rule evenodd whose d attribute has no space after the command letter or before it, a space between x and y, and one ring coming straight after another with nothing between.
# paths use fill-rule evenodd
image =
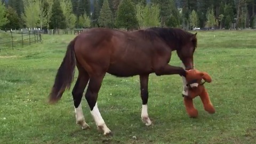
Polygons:
<instances>
[{"instance_id":1,"label":"wire fence with thin posts at the field's left edge","mask_svg":"<svg viewBox=\"0 0 256 144\"><path fill-rule=\"evenodd\" d=\"M3 49L14 49L15 47L23 47L42 41L41 31L25 30L13 32L0 31L0 52Z\"/></svg>"}]
</instances>

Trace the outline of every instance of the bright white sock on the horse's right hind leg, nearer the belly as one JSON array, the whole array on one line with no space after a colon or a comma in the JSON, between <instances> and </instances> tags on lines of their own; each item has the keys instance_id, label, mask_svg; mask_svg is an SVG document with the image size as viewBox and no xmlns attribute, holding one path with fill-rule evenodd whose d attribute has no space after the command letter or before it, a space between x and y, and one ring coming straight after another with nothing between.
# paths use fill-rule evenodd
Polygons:
<instances>
[{"instance_id":1,"label":"bright white sock on the horse's right hind leg, nearer the belly","mask_svg":"<svg viewBox=\"0 0 256 144\"><path fill-rule=\"evenodd\" d=\"M98 126L98 129L102 130L104 132L104 135L109 134L111 131L108 129L107 125L105 124L100 111L98 109L98 103L95 103L95 106L93 107L91 111L92 117Z\"/></svg>"}]
</instances>

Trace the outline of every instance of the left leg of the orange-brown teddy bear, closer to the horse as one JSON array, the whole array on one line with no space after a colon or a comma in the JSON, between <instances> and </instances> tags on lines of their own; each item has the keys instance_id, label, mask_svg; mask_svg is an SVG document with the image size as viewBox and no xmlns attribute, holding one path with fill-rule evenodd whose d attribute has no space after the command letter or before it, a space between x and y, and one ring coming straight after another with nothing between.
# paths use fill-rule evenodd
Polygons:
<instances>
[{"instance_id":1,"label":"left leg of the orange-brown teddy bear, closer to the horse","mask_svg":"<svg viewBox=\"0 0 256 144\"><path fill-rule=\"evenodd\" d=\"M184 97L184 104L186 106L186 110L187 110L187 113L188 113L189 117L195 118L195 117L198 116L198 111L194 107L193 99L188 98L188 97Z\"/></svg>"}]
</instances>

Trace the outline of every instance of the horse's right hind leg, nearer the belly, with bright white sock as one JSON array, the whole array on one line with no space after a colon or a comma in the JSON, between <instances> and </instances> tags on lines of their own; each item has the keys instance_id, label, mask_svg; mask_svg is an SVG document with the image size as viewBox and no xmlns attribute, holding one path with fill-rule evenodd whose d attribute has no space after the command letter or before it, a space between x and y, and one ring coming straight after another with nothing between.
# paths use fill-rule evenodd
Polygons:
<instances>
[{"instance_id":1,"label":"horse's right hind leg, nearer the belly, with bright white sock","mask_svg":"<svg viewBox=\"0 0 256 144\"><path fill-rule=\"evenodd\" d=\"M105 124L97 105L98 93L105 74L90 75L90 82L87 87L85 98L90 106L91 114L99 130L104 132L104 135L111 133Z\"/></svg>"}]
</instances>

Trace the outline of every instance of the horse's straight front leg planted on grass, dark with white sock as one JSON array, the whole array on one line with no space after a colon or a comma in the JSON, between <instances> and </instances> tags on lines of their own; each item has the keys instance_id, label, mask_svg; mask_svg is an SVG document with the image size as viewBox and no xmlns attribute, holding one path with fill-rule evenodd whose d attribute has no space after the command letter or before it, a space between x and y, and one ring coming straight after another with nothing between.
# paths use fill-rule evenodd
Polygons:
<instances>
[{"instance_id":1,"label":"horse's straight front leg planted on grass, dark with white sock","mask_svg":"<svg viewBox=\"0 0 256 144\"><path fill-rule=\"evenodd\" d=\"M146 123L147 126L151 125L152 122L148 117L148 77L149 75L140 75L140 95L142 100L141 119Z\"/></svg>"}]
</instances>

